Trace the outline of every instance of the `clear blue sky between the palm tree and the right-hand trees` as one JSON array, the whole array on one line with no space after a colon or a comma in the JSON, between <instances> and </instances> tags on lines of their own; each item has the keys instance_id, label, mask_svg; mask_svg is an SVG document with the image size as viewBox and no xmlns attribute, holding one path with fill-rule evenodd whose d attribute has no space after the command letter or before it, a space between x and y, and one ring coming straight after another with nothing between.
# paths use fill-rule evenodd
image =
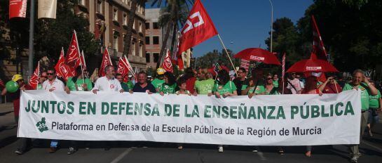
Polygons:
<instances>
[{"instance_id":1,"label":"clear blue sky between the palm tree and the right-hand trees","mask_svg":"<svg viewBox=\"0 0 382 163\"><path fill-rule=\"evenodd\" d=\"M271 30L271 4L268 0L201 0L227 48L238 53L245 48L266 48L264 40ZM287 17L296 22L312 0L272 0L273 20ZM193 56L221 51L219 38L212 37L193 48Z\"/></svg>"}]
</instances>

